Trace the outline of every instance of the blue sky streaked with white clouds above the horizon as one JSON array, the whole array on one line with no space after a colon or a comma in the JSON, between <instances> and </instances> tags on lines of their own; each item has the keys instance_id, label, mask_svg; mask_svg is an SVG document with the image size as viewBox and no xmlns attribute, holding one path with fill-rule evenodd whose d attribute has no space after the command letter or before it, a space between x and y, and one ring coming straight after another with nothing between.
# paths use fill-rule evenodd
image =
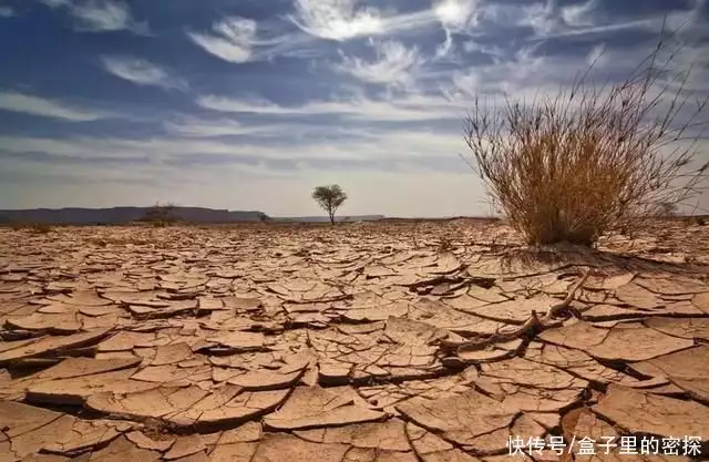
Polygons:
<instances>
[{"instance_id":1,"label":"blue sky streaked with white clouds above the horizon","mask_svg":"<svg viewBox=\"0 0 709 462\"><path fill-rule=\"evenodd\" d=\"M474 95L553 91L600 50L624 75L664 21L706 94L708 3L0 0L0 208L314 215L338 183L345 215L486 214Z\"/></svg>"}]
</instances>

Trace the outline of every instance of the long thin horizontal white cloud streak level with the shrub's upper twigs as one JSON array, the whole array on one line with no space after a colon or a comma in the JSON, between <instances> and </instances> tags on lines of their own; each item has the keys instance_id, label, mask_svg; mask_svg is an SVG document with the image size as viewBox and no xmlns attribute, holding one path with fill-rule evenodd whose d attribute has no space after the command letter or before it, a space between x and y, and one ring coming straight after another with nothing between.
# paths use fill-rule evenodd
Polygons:
<instances>
[{"instance_id":1,"label":"long thin horizontal white cloud streak level with the shrub's upper twigs","mask_svg":"<svg viewBox=\"0 0 709 462\"><path fill-rule=\"evenodd\" d=\"M264 100L238 100L206 95L197 99L202 107L220 112L243 112L266 115L341 115L362 121L413 122L456 119L460 103L442 96L408 95L391 100L363 96L341 101L315 101L300 106L281 106Z\"/></svg>"}]
</instances>

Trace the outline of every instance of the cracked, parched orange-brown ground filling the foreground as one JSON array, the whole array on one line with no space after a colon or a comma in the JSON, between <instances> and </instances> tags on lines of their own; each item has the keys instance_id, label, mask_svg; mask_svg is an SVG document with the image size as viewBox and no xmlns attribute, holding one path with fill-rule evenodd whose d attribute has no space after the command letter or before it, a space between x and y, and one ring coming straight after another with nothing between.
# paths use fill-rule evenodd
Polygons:
<instances>
[{"instance_id":1,"label":"cracked, parched orange-brown ground filling the foreground","mask_svg":"<svg viewBox=\"0 0 709 462\"><path fill-rule=\"evenodd\" d=\"M0 229L0 461L706 460L708 281L682 223Z\"/></svg>"}]
</instances>

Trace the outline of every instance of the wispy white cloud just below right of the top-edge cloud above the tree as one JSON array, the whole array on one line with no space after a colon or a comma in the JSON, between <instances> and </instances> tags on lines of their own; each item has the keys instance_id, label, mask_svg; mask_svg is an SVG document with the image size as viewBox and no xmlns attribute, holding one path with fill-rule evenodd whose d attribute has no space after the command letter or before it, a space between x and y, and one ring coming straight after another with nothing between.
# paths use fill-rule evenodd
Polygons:
<instances>
[{"instance_id":1,"label":"wispy white cloud just below right of the top-edge cloud above the tree","mask_svg":"<svg viewBox=\"0 0 709 462\"><path fill-rule=\"evenodd\" d=\"M357 57L343 55L342 62L336 65L336 69L364 82L411 88L413 74L424 62L419 49L408 49L393 40L373 42L372 45L377 53L376 61L368 62Z\"/></svg>"}]
</instances>

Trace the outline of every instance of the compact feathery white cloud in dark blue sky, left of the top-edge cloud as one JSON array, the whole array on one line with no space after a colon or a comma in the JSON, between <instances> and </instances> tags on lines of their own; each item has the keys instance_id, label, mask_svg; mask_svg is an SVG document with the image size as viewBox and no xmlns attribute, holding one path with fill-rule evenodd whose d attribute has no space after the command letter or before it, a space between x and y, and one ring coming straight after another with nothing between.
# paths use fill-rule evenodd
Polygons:
<instances>
[{"instance_id":1,"label":"compact feathery white cloud in dark blue sky, left of the top-edge cloud","mask_svg":"<svg viewBox=\"0 0 709 462\"><path fill-rule=\"evenodd\" d=\"M215 23L213 33L188 32L187 35L207 53L225 61L242 63L253 57L256 44L256 21L229 17Z\"/></svg>"}]
</instances>

